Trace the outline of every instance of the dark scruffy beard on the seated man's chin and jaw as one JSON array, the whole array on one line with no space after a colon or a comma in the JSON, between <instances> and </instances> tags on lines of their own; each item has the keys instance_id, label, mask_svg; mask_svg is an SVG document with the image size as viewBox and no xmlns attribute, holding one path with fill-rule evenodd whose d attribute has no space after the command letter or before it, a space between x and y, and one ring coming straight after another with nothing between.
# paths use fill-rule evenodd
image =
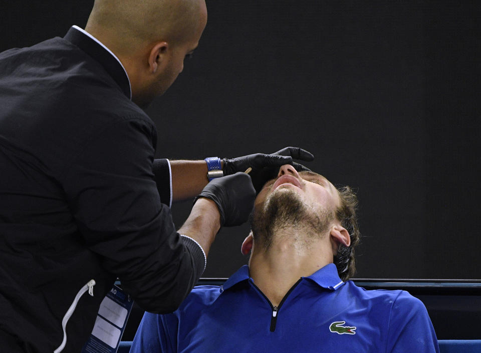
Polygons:
<instances>
[{"instance_id":1,"label":"dark scruffy beard on the seated man's chin and jaw","mask_svg":"<svg viewBox=\"0 0 481 353\"><path fill-rule=\"evenodd\" d=\"M276 232L289 228L303 230L307 243L309 239L322 237L333 219L334 210L307 205L294 190L275 190L263 209L254 209L251 228L256 241L268 250Z\"/></svg>"}]
</instances>

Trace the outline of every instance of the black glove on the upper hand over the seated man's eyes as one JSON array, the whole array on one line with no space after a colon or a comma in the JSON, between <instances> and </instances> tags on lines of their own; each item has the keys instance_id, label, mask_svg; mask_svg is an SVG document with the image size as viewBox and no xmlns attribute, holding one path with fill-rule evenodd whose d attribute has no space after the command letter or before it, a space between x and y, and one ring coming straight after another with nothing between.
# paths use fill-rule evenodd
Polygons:
<instances>
[{"instance_id":1,"label":"black glove on the upper hand over the seated man's eyes","mask_svg":"<svg viewBox=\"0 0 481 353\"><path fill-rule=\"evenodd\" d=\"M277 176L281 165L291 164L297 171L310 170L304 165L294 162L293 159L311 161L314 159L314 155L299 147L286 147L271 154L255 153L231 159L224 158L222 159L222 170L224 175L229 175L237 171L246 171L251 167L252 183L256 192L259 193L267 181Z\"/></svg>"}]
</instances>

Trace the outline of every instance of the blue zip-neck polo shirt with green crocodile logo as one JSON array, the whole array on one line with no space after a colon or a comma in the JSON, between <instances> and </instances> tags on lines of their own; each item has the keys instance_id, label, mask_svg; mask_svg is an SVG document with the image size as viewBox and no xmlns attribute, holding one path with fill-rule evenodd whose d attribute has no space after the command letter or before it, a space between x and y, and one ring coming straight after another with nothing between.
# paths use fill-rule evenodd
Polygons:
<instances>
[{"instance_id":1,"label":"blue zip-neck polo shirt with green crocodile logo","mask_svg":"<svg viewBox=\"0 0 481 353\"><path fill-rule=\"evenodd\" d=\"M273 307L243 266L222 286L196 286L169 314L146 312L134 353L439 352L424 304L403 290L366 290L328 264Z\"/></svg>"}]
</instances>

